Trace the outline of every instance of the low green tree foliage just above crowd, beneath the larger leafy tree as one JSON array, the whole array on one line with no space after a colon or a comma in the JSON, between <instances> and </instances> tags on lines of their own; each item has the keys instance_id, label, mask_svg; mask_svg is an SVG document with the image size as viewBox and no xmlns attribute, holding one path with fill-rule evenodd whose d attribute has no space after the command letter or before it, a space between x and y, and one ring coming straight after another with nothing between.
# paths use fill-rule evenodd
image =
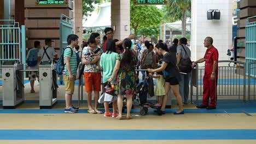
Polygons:
<instances>
[{"instance_id":1,"label":"low green tree foliage just above crowd, beneath the larger leafy tree","mask_svg":"<svg viewBox=\"0 0 256 144\"><path fill-rule=\"evenodd\" d=\"M158 37L160 27L142 27L138 29L138 34L142 35L143 42L146 37Z\"/></svg>"}]
</instances>

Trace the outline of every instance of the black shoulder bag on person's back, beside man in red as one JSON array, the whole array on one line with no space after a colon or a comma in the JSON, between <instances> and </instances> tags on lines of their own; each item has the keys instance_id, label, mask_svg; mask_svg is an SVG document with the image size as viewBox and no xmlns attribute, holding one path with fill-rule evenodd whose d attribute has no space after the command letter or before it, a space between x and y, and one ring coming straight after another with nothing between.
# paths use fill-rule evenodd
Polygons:
<instances>
[{"instance_id":1,"label":"black shoulder bag on person's back, beside man in red","mask_svg":"<svg viewBox=\"0 0 256 144\"><path fill-rule=\"evenodd\" d=\"M188 53L187 51L185 50L184 46L181 45L183 47L183 50L185 51L186 55L188 56ZM182 58L181 57L181 60L179 61L178 63L178 67L179 67L179 70L181 70L182 73L190 73L192 68L191 68L191 65L192 65L192 61L190 60L189 56L188 58Z\"/></svg>"}]
</instances>

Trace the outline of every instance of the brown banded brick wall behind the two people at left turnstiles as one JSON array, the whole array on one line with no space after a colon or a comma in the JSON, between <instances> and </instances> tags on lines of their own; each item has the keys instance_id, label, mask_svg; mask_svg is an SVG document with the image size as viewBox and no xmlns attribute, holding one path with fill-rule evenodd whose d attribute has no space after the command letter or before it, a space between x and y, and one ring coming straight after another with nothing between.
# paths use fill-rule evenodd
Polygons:
<instances>
[{"instance_id":1,"label":"brown banded brick wall behind the two people at left turnstiles","mask_svg":"<svg viewBox=\"0 0 256 144\"><path fill-rule=\"evenodd\" d=\"M44 46L45 38L53 39L53 47L60 54L60 15L74 18L74 1L68 5L36 6L35 0L25 0L26 47L33 48L38 40ZM81 9L82 10L82 9Z\"/></svg>"}]
</instances>

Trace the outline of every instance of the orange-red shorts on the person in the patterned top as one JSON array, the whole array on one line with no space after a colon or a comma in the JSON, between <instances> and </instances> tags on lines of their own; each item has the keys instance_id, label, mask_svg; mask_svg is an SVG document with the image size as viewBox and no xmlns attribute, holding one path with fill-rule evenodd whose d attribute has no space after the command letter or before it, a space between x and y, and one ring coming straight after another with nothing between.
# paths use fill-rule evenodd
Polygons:
<instances>
[{"instance_id":1,"label":"orange-red shorts on the person in the patterned top","mask_svg":"<svg viewBox=\"0 0 256 144\"><path fill-rule=\"evenodd\" d=\"M101 73L84 72L85 92L101 91Z\"/></svg>"}]
</instances>

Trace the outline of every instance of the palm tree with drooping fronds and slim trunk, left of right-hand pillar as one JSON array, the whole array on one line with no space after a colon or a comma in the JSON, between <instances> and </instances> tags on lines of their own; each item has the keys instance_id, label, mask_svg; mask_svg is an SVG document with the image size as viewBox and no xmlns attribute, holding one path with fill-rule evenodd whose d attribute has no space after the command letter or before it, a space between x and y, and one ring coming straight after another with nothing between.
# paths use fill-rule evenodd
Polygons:
<instances>
[{"instance_id":1,"label":"palm tree with drooping fronds and slim trunk, left of right-hand pillar","mask_svg":"<svg viewBox=\"0 0 256 144\"><path fill-rule=\"evenodd\" d=\"M187 17L191 13L191 0L167 0L167 14L182 21L182 37L186 34Z\"/></svg>"}]
</instances>

